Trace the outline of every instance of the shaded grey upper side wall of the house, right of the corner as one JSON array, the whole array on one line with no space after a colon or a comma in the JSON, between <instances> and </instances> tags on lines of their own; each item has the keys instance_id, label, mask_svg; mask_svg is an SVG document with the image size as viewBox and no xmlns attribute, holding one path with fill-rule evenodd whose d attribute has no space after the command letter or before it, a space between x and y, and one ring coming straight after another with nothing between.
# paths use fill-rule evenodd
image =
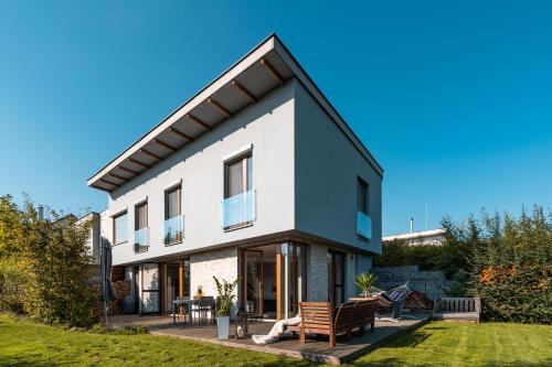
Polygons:
<instances>
[{"instance_id":1,"label":"shaded grey upper side wall of the house, right of the corner","mask_svg":"<svg viewBox=\"0 0 552 367\"><path fill-rule=\"evenodd\" d=\"M382 177L300 84L295 112L295 227L381 253ZM358 176L370 185L369 242L357 236Z\"/></svg>"}]
</instances>

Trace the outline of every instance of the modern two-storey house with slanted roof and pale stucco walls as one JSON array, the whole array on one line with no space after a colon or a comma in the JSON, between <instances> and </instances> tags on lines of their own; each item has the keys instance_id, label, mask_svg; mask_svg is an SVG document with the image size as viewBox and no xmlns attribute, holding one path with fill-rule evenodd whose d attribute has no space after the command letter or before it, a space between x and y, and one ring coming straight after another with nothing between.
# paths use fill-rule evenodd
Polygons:
<instances>
[{"instance_id":1,"label":"modern two-storey house with slanted roof and pale stucco walls","mask_svg":"<svg viewBox=\"0 0 552 367\"><path fill-rule=\"evenodd\" d=\"M137 312L216 295L285 319L339 304L381 252L383 170L272 35L99 170L102 236Z\"/></svg>"}]
</instances>

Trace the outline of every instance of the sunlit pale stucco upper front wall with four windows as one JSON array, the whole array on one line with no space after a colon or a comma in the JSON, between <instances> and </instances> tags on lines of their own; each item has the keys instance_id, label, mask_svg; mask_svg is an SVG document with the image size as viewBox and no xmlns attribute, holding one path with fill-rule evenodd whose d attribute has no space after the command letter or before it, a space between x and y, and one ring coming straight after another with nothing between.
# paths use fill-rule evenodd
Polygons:
<instances>
[{"instance_id":1,"label":"sunlit pale stucco upper front wall with four windows","mask_svg":"<svg viewBox=\"0 0 552 367\"><path fill-rule=\"evenodd\" d=\"M128 212L128 242L114 246L114 265L201 249L294 227L294 85L269 94L212 132L110 194L109 214ZM253 147L253 187L256 220L253 226L227 231L221 228L224 160ZM164 190L182 182L184 241L166 247L162 241ZM148 201L149 250L134 251L135 205ZM112 223L109 223L108 237ZM112 239L113 241L113 239Z\"/></svg>"}]
</instances>

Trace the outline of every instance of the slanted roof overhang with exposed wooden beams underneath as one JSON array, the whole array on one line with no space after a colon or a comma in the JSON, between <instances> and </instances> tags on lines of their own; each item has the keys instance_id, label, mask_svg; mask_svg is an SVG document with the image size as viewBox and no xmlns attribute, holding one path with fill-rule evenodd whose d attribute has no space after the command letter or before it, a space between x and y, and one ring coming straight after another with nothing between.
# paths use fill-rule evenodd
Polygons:
<instances>
[{"instance_id":1,"label":"slanted roof overhang with exposed wooden beams underneath","mask_svg":"<svg viewBox=\"0 0 552 367\"><path fill-rule=\"evenodd\" d=\"M116 190L293 77L383 176L380 164L282 41L273 34L88 179L88 186L107 192Z\"/></svg>"}]
</instances>

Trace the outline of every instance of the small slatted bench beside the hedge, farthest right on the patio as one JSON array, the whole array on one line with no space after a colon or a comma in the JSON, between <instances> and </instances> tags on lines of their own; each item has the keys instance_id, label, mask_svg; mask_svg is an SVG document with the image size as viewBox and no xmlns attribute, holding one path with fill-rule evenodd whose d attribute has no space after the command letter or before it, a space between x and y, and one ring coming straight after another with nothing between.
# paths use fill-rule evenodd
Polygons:
<instances>
[{"instance_id":1,"label":"small slatted bench beside the hedge, farthest right on the patio","mask_svg":"<svg viewBox=\"0 0 552 367\"><path fill-rule=\"evenodd\" d=\"M479 298L442 298L435 301L433 319L445 321L479 322L481 300Z\"/></svg>"}]
</instances>

